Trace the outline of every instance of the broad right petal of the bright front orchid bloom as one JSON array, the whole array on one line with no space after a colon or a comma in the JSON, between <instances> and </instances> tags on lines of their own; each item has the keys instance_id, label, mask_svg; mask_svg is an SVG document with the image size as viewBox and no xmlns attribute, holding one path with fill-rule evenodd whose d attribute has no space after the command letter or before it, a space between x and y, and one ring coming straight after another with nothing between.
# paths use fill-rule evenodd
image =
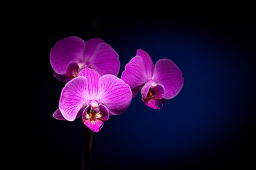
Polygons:
<instances>
[{"instance_id":1,"label":"broad right petal of the bright front orchid bloom","mask_svg":"<svg viewBox=\"0 0 256 170\"><path fill-rule=\"evenodd\" d=\"M124 113L132 101L132 91L121 79L108 74L100 77L99 91L96 99L106 106L110 115Z\"/></svg>"}]
</instances>

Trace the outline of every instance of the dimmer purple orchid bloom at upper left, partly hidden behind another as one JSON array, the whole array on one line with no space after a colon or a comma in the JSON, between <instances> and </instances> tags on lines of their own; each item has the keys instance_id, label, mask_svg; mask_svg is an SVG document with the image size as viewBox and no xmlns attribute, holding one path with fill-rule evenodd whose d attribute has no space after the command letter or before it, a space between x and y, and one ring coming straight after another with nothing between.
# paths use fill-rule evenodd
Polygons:
<instances>
[{"instance_id":1,"label":"dimmer purple orchid bloom at upper left, partly hidden behind another","mask_svg":"<svg viewBox=\"0 0 256 170\"><path fill-rule=\"evenodd\" d=\"M64 82L78 77L83 68L95 69L101 76L117 76L120 68L117 52L102 39L84 41L75 36L56 42L50 50L50 64L54 77Z\"/></svg>"}]
</instances>

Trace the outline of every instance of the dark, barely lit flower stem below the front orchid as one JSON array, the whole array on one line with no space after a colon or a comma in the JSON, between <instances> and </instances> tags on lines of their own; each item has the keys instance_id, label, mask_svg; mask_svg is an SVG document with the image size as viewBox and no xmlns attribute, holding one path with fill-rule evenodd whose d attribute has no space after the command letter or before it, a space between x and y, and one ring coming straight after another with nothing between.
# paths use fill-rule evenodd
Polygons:
<instances>
[{"instance_id":1,"label":"dark, barely lit flower stem below the front orchid","mask_svg":"<svg viewBox=\"0 0 256 170\"><path fill-rule=\"evenodd\" d=\"M92 157L92 147L95 140L95 132L92 132L89 128L85 128L85 142L82 152L82 166L81 170L90 170L91 167L91 157Z\"/></svg>"}]
</instances>

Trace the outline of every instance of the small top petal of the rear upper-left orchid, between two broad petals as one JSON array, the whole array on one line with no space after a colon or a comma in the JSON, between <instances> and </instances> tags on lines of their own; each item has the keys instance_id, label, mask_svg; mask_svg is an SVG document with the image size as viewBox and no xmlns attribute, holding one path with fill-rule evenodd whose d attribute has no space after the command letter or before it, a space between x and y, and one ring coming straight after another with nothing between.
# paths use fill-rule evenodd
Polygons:
<instances>
[{"instance_id":1,"label":"small top petal of the rear upper-left orchid, between two broad petals","mask_svg":"<svg viewBox=\"0 0 256 170\"><path fill-rule=\"evenodd\" d=\"M100 42L104 42L104 41L101 38L91 38L90 40L85 41L85 50L83 53L85 62L90 59L90 57L95 52L97 45L99 45Z\"/></svg>"}]
</instances>

